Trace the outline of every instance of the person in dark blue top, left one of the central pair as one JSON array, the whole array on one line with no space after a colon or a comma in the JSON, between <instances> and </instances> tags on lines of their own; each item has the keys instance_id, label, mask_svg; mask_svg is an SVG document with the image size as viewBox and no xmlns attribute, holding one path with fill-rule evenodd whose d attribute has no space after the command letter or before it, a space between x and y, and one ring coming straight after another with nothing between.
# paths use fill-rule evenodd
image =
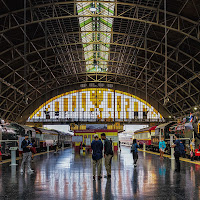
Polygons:
<instances>
[{"instance_id":1,"label":"person in dark blue top, left one of the central pair","mask_svg":"<svg viewBox=\"0 0 200 200\"><path fill-rule=\"evenodd\" d=\"M99 140L98 134L94 135L94 140L91 143L92 148L92 159L93 159L93 180L95 180L96 176L96 167L97 167L97 176L98 180L102 178L101 176L101 169L102 169L102 150L103 150L103 143Z\"/></svg>"}]
</instances>

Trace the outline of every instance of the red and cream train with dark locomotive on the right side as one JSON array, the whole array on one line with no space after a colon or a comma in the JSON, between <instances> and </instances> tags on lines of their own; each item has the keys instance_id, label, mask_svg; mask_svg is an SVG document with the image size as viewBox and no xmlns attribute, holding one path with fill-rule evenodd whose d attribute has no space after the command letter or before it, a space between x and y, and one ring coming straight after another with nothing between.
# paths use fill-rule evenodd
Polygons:
<instances>
[{"instance_id":1,"label":"red and cream train with dark locomotive on the right side","mask_svg":"<svg viewBox=\"0 0 200 200\"><path fill-rule=\"evenodd\" d=\"M164 140L166 143L167 154L171 154L170 135L178 135L179 140L185 146L186 156L190 157L190 143L195 140L195 157L200 156L200 114L195 113L183 118L178 123L176 121L167 122L157 126L147 127L134 132L132 139L137 139L142 148L144 143L147 150L159 151L159 141ZM123 137L122 137L123 138ZM122 144L131 144L129 140L123 139ZM198 158L199 159L199 158Z\"/></svg>"}]
</instances>

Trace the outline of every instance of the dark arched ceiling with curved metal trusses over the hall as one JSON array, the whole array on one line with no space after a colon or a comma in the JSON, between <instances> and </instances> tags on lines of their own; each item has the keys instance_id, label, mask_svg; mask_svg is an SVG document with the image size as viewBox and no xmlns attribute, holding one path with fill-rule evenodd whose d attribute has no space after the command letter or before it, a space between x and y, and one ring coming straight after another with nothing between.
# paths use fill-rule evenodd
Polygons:
<instances>
[{"instance_id":1,"label":"dark arched ceiling with curved metal trusses over the hall","mask_svg":"<svg viewBox=\"0 0 200 200\"><path fill-rule=\"evenodd\" d=\"M0 116L4 119L19 119L35 107L36 99L44 99L45 94L50 98L49 91L83 83L112 83L133 92L147 92L149 100L154 99L176 117L199 106L199 0L167 0L166 26L163 0L90 1L112 5L112 15L86 15L77 10L78 3L89 1L25 2L26 12L24 0L0 0ZM92 23L112 19L112 26L83 30L79 22L84 18L92 19ZM169 102L163 105L165 27ZM83 34L91 33L107 34L110 40L85 42ZM96 47L100 45L109 48L99 50ZM87 52L85 46L95 48ZM87 71L85 54L99 52L109 55L102 58L107 70Z\"/></svg>"}]
</instances>

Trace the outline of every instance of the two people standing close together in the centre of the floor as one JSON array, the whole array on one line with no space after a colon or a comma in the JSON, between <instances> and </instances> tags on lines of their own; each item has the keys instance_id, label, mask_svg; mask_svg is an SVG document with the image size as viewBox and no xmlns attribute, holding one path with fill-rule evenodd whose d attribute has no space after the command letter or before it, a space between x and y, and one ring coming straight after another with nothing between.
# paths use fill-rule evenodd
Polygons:
<instances>
[{"instance_id":1,"label":"two people standing close together in the centre of the floor","mask_svg":"<svg viewBox=\"0 0 200 200\"><path fill-rule=\"evenodd\" d=\"M107 178L111 178L111 163L113 157L112 142L106 138L106 134L101 134L101 139L99 139L98 134L94 135L94 140L91 143L92 148L92 159L93 159L93 180L96 180L96 167L98 180L102 178L102 158L103 158L103 143L104 140L104 158L105 158L105 168L107 171Z\"/></svg>"}]
</instances>

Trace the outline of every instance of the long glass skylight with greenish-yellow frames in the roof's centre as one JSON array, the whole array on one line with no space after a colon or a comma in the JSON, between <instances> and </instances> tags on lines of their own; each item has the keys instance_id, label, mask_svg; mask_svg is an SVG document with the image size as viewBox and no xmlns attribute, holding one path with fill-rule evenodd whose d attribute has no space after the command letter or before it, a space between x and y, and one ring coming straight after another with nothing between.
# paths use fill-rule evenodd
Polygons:
<instances>
[{"instance_id":1,"label":"long glass skylight with greenish-yellow frames in the roof's centre","mask_svg":"<svg viewBox=\"0 0 200 200\"><path fill-rule=\"evenodd\" d=\"M96 11L92 12L91 8ZM114 8L114 4L108 3L108 1L94 3L88 0L88 3L77 3L78 15L81 16L79 25L82 31L81 38L88 72L106 72L108 70L109 43L113 26L113 18L109 16L113 16ZM104 15L105 17L103 17Z\"/></svg>"}]
</instances>

